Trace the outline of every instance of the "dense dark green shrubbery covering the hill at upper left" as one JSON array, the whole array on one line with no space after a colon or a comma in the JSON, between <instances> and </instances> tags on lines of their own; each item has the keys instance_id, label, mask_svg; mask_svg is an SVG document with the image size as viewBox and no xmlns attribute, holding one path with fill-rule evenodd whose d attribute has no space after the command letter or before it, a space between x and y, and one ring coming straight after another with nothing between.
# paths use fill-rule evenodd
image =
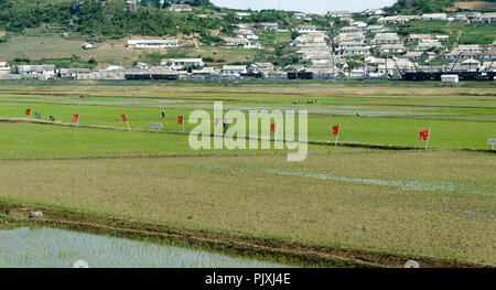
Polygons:
<instances>
[{"instance_id":1,"label":"dense dark green shrubbery covering the hill at upper left","mask_svg":"<svg viewBox=\"0 0 496 290\"><path fill-rule=\"evenodd\" d=\"M40 0L25 0L23 3L0 0L0 28L21 32L43 23L63 25L83 34L111 37L128 34L207 34L207 30L219 29L219 24L209 18L166 13L143 6L133 10L123 0L64 0L50 3Z\"/></svg>"}]
</instances>

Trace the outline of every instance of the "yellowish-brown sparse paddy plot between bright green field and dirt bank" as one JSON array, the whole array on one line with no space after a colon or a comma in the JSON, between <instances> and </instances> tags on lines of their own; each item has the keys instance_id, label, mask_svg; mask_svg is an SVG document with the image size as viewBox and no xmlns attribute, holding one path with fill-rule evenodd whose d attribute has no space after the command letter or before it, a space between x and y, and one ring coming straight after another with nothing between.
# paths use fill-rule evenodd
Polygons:
<instances>
[{"instance_id":1,"label":"yellowish-brown sparse paddy plot between bright green field and dirt bank","mask_svg":"<svg viewBox=\"0 0 496 290\"><path fill-rule=\"evenodd\" d=\"M313 153L298 163L281 155L4 160L0 196L281 244L495 266L495 170L492 153L456 151Z\"/></svg>"}]
</instances>

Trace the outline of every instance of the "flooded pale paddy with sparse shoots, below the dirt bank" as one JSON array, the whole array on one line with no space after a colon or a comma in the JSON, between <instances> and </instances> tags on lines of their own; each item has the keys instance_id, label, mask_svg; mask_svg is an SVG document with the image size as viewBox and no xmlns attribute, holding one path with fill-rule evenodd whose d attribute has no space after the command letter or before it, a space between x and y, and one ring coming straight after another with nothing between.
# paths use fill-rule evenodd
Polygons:
<instances>
[{"instance_id":1,"label":"flooded pale paddy with sparse shoots, below the dirt bank","mask_svg":"<svg viewBox=\"0 0 496 290\"><path fill-rule=\"evenodd\" d=\"M284 265L56 228L0 229L0 268L280 268Z\"/></svg>"}]
</instances>

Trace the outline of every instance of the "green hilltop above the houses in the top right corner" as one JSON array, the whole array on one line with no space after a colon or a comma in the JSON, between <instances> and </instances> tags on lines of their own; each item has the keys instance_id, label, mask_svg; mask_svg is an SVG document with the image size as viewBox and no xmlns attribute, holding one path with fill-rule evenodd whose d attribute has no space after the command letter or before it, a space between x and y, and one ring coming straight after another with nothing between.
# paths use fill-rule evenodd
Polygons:
<instances>
[{"instance_id":1,"label":"green hilltop above the houses in the top right corner","mask_svg":"<svg viewBox=\"0 0 496 290\"><path fill-rule=\"evenodd\" d=\"M398 0L392 7L387 8L387 11L401 14L421 14L471 9L496 11L496 0Z\"/></svg>"}]
</instances>

